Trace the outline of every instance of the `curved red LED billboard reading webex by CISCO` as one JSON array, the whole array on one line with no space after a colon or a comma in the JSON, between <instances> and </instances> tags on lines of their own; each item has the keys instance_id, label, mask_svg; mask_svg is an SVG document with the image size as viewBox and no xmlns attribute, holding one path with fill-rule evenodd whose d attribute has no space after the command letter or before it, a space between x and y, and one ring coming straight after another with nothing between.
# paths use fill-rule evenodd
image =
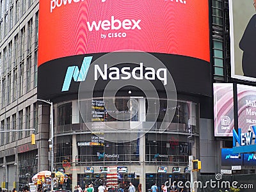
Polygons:
<instances>
[{"instance_id":1,"label":"curved red LED billboard reading webex by CISCO","mask_svg":"<svg viewBox=\"0 0 256 192\"><path fill-rule=\"evenodd\" d=\"M208 1L40 1L38 66L124 49L209 62Z\"/></svg>"}]
</instances>

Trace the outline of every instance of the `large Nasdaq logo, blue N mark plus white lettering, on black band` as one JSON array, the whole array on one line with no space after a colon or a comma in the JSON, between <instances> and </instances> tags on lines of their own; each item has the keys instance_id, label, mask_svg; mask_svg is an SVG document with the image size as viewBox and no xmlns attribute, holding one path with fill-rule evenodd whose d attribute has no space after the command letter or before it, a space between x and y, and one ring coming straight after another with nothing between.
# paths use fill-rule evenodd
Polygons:
<instances>
[{"instance_id":1,"label":"large Nasdaq logo, blue N mark plus white lettering, on black band","mask_svg":"<svg viewBox=\"0 0 256 192\"><path fill-rule=\"evenodd\" d=\"M81 69L79 70L78 66L70 66L67 69L67 73L63 82L61 92L67 92L70 87L72 78L75 82L85 81L90 64L92 62L92 56L84 57ZM164 85L167 84L167 69L166 68L155 68L152 67L143 67L143 63L140 63L140 67L109 67L108 64L104 64L103 68L100 68L100 65L94 65L94 80L97 81L99 77L102 77L103 80L118 80L124 79L128 80L134 78L136 80L155 80L156 77L163 82Z\"/></svg>"}]
</instances>

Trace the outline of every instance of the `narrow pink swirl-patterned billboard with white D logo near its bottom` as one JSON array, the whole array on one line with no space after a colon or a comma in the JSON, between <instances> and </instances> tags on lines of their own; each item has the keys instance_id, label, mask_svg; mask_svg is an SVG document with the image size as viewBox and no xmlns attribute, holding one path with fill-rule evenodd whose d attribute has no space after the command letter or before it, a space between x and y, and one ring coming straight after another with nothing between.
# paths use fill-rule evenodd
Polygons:
<instances>
[{"instance_id":1,"label":"narrow pink swirl-patterned billboard with white D logo near its bottom","mask_svg":"<svg viewBox=\"0 0 256 192\"><path fill-rule=\"evenodd\" d=\"M232 83L214 83L214 136L233 136L234 96Z\"/></svg>"}]
</instances>

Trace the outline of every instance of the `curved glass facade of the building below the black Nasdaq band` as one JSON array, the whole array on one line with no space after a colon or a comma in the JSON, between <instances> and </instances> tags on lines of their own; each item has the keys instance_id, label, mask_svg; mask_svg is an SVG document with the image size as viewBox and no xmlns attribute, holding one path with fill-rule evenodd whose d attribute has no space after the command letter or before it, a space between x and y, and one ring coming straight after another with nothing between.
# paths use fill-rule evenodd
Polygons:
<instances>
[{"instance_id":1,"label":"curved glass facade of the building below the black Nasdaq band","mask_svg":"<svg viewBox=\"0 0 256 192\"><path fill-rule=\"evenodd\" d=\"M199 154L198 104L178 101L167 109L163 99L157 111L154 99L116 97L109 102L115 109L102 98L83 100L80 106L77 100L54 105L54 167L69 178L62 188L70 189L71 179L83 188L104 182L114 190L127 189L130 181L150 189L154 182L161 186L168 179L189 179L188 156ZM167 110L175 115L160 131Z\"/></svg>"}]
</instances>

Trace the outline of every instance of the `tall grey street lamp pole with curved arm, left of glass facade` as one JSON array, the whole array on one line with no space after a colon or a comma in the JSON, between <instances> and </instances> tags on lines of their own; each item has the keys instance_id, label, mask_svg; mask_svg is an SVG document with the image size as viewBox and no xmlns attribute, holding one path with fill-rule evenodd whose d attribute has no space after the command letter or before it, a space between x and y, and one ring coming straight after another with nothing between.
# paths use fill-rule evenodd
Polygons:
<instances>
[{"instance_id":1,"label":"tall grey street lamp pole with curved arm, left of glass facade","mask_svg":"<svg viewBox=\"0 0 256 192\"><path fill-rule=\"evenodd\" d=\"M54 159L54 151L53 151L53 104L50 102L50 100L43 100L43 99L29 99L29 100L38 100L42 102L46 102L47 104L51 105L50 109L50 124L51 124L51 138L49 139L49 142L51 142L51 145L49 145L49 148L51 148L51 172L53 172L53 159ZM51 178L51 191L53 191L53 179Z\"/></svg>"}]
</instances>

